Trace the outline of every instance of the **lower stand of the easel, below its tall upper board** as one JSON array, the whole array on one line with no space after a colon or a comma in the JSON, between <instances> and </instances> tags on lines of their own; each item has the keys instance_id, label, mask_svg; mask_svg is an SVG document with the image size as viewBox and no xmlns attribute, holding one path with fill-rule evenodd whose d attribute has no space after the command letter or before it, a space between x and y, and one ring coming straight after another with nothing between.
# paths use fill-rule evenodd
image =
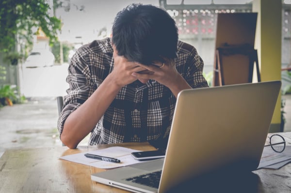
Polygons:
<instances>
[{"instance_id":1,"label":"lower stand of the easel, below its tall upper board","mask_svg":"<svg viewBox=\"0 0 291 193\"><path fill-rule=\"evenodd\" d=\"M227 68L231 67L231 64L226 66L223 62L224 58L232 57L232 64L240 63L239 68L242 70L240 74L235 74L233 71L228 70L231 73L226 74ZM242 59L248 60L243 62ZM256 71L258 82L260 82L259 74L259 62L258 53L250 45L224 45L218 47L215 51L215 62L213 68L213 86L223 86L229 84L241 84L253 82L254 62L256 63ZM226 62L231 63L231 62ZM244 66L242 66L244 65ZM241 77L237 77L241 75ZM227 76L227 81L226 81ZM247 76L247 77L246 77Z\"/></svg>"}]
</instances>

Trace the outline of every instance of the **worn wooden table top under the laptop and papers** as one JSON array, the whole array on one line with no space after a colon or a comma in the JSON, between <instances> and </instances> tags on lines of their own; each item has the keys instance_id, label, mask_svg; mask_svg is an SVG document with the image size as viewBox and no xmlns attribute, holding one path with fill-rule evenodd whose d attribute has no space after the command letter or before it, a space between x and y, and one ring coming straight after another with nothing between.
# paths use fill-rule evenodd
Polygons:
<instances>
[{"instance_id":1,"label":"worn wooden table top under the laptop and papers","mask_svg":"<svg viewBox=\"0 0 291 193\"><path fill-rule=\"evenodd\" d=\"M288 141L287 144L291 145L291 132L282 135ZM59 159L64 155L111 146L114 145L78 149L54 147L7 150L0 158L0 193L128 193L91 180L92 173L103 169ZM124 143L117 146L138 150L155 149L148 143ZM256 192L291 192L291 164L279 170L260 169L253 173L259 177Z\"/></svg>"}]
</instances>

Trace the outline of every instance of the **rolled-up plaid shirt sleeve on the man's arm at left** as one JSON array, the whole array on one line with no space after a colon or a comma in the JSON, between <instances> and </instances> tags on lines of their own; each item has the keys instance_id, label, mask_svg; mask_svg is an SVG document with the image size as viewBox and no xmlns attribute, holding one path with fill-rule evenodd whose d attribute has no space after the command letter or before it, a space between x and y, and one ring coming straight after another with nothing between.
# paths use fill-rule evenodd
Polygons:
<instances>
[{"instance_id":1,"label":"rolled-up plaid shirt sleeve on the man's arm at left","mask_svg":"<svg viewBox=\"0 0 291 193\"><path fill-rule=\"evenodd\" d=\"M88 67L88 52L90 50L86 50L86 48L78 50L68 67L66 82L69 84L69 89L66 90L67 95L64 97L63 110L59 115L57 124L60 136L67 117L83 104L95 90Z\"/></svg>"}]
</instances>

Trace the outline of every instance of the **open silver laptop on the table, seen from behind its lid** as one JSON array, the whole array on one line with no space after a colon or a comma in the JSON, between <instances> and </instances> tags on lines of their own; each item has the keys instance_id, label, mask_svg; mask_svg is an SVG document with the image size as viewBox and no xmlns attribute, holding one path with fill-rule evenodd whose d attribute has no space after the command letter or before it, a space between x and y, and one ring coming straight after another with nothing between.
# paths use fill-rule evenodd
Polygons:
<instances>
[{"instance_id":1,"label":"open silver laptop on the table, seen from behind its lid","mask_svg":"<svg viewBox=\"0 0 291 193\"><path fill-rule=\"evenodd\" d=\"M95 173L91 179L135 193L164 193L181 190L185 182L196 187L202 178L209 181L213 171L252 173L259 165L280 88L281 81L270 81L182 90L165 158ZM155 176L158 179L150 179Z\"/></svg>"}]
</instances>

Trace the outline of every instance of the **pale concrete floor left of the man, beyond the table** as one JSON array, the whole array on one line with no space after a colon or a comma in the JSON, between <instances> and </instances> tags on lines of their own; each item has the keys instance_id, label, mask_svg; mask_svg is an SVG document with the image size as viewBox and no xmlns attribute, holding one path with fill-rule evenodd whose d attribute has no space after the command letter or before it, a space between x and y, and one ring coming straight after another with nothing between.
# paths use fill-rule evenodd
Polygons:
<instances>
[{"instance_id":1,"label":"pale concrete floor left of the man, beyond the table","mask_svg":"<svg viewBox=\"0 0 291 193\"><path fill-rule=\"evenodd\" d=\"M0 108L0 156L8 148L62 146L57 130L55 97L32 98ZM80 145L87 145L85 138Z\"/></svg>"}]
</instances>

